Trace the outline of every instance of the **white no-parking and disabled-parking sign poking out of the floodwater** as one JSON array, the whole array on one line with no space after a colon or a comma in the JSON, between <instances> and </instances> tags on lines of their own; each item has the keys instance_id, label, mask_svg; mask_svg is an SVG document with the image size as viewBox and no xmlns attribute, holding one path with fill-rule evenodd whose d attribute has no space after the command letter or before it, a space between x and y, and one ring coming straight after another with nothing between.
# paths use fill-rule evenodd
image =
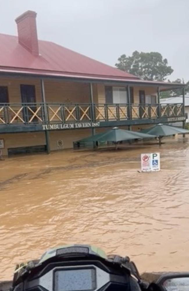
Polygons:
<instances>
[{"instance_id":1,"label":"white no-parking and disabled-parking sign poking out of the floodwater","mask_svg":"<svg viewBox=\"0 0 189 291\"><path fill-rule=\"evenodd\" d=\"M141 154L141 171L142 172L160 171L159 152L151 154Z\"/></svg>"}]
</instances>

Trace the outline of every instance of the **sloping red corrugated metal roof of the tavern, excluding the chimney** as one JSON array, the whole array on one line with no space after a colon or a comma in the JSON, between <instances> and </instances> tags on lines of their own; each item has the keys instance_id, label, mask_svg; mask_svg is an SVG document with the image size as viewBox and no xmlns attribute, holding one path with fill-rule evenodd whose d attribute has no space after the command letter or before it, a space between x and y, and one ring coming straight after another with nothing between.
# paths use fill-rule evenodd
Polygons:
<instances>
[{"instance_id":1,"label":"sloping red corrugated metal roof of the tavern, excluding the chimney","mask_svg":"<svg viewBox=\"0 0 189 291\"><path fill-rule=\"evenodd\" d=\"M57 45L53 42L39 40L39 56L32 55L18 43L17 36L0 34L0 71L10 70L22 72L38 72L51 75L78 75L85 77L101 77L112 79L135 79L104 63L88 58L82 54Z\"/></svg>"}]
</instances>

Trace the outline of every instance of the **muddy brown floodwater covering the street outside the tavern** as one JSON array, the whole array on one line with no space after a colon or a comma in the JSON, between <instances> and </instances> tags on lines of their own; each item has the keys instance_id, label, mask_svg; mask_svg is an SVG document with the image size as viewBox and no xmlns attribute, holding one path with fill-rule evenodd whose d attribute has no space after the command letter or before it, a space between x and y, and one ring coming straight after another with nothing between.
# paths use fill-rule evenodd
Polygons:
<instances>
[{"instance_id":1,"label":"muddy brown floodwater covering the street outside the tavern","mask_svg":"<svg viewBox=\"0 0 189 291\"><path fill-rule=\"evenodd\" d=\"M161 171L138 173L140 154ZM0 161L0 278L53 246L95 244L139 271L188 270L189 140Z\"/></svg>"}]
</instances>

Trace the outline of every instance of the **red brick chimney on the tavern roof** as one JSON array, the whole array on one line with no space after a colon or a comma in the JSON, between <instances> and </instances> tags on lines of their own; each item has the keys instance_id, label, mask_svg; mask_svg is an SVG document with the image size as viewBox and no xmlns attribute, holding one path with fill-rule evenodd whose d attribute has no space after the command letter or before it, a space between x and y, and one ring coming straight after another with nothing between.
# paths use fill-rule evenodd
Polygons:
<instances>
[{"instance_id":1,"label":"red brick chimney on the tavern roof","mask_svg":"<svg viewBox=\"0 0 189 291\"><path fill-rule=\"evenodd\" d=\"M33 55L39 55L38 35L34 11L26 11L15 19L18 29L18 42Z\"/></svg>"}]
</instances>

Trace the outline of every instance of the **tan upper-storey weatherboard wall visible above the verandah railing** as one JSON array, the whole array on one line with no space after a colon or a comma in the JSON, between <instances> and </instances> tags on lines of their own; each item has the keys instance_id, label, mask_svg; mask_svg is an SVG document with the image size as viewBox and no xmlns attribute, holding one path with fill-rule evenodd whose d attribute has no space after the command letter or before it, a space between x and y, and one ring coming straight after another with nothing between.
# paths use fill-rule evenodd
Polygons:
<instances>
[{"instance_id":1,"label":"tan upper-storey weatherboard wall visible above the verandah railing","mask_svg":"<svg viewBox=\"0 0 189 291\"><path fill-rule=\"evenodd\" d=\"M20 103L20 84L35 85L36 102L42 102L40 79L32 78L0 78L0 86L8 87L10 103ZM90 86L88 83L67 82L64 80L44 80L46 102L53 103L90 103ZM139 91L145 95L156 95L156 87L134 87L134 103L139 103ZM95 103L106 103L105 85L93 84L93 99Z\"/></svg>"}]
</instances>

